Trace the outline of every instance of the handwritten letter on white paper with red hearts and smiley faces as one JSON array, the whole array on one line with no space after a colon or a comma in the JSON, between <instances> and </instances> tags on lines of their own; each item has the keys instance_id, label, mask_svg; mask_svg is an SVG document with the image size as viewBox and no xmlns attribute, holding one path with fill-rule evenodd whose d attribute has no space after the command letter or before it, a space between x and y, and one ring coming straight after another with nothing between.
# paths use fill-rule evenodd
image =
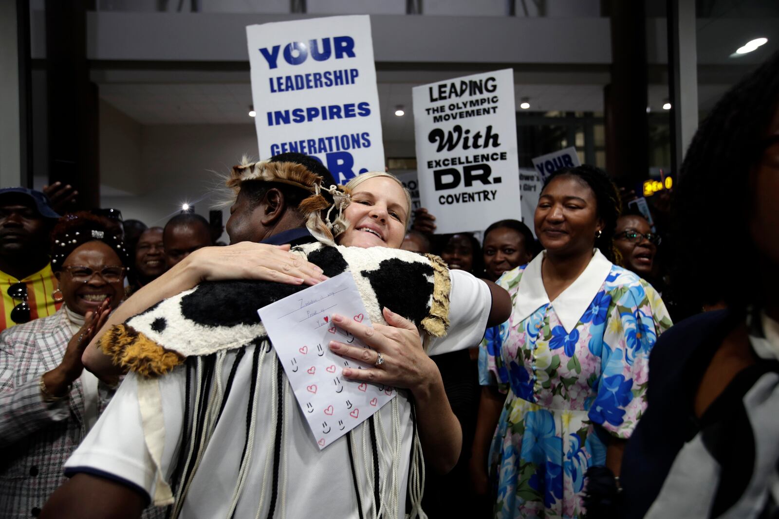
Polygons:
<instances>
[{"instance_id":1,"label":"handwritten letter on white paper with red hearts and smiley faces","mask_svg":"<svg viewBox=\"0 0 779 519\"><path fill-rule=\"evenodd\" d=\"M397 394L393 387L347 380L344 367L365 363L337 356L330 341L368 348L330 322L332 314L371 325L351 272L257 310L319 449L358 426Z\"/></svg>"}]
</instances>

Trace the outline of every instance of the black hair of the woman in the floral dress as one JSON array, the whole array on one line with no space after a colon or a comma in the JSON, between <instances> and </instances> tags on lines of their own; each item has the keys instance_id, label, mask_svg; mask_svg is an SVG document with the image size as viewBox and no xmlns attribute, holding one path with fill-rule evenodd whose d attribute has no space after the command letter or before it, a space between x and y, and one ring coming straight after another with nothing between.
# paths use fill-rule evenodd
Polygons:
<instances>
[{"instance_id":1,"label":"black hair of the woman in the floral dress","mask_svg":"<svg viewBox=\"0 0 779 519\"><path fill-rule=\"evenodd\" d=\"M603 220L603 230L601 236L595 237L595 247L615 265L619 265L622 260L622 254L619 254L614 246L614 231L617 226L617 219L622 213L622 202L619 198L619 190L608 177L604 170L600 168L583 164L576 167L566 167L557 170L546 178L543 192L552 180L562 176L576 177L590 186L595 195L597 206L597 217Z\"/></svg>"}]
</instances>

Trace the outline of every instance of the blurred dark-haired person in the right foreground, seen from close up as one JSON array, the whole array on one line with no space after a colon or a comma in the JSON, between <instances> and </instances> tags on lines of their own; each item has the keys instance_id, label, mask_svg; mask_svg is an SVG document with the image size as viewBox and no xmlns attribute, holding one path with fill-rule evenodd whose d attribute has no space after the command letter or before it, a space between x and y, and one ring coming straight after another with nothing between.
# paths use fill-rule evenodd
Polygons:
<instances>
[{"instance_id":1,"label":"blurred dark-haired person in the right foreground, seen from close up","mask_svg":"<svg viewBox=\"0 0 779 519\"><path fill-rule=\"evenodd\" d=\"M649 408L622 473L590 476L588 508L591 517L777 517L779 53L711 110L679 179L675 279L692 306L726 309L658 340ZM713 200L728 210L712 211ZM724 236L735 251L725 270L701 258ZM619 510L602 508L608 503Z\"/></svg>"}]
</instances>

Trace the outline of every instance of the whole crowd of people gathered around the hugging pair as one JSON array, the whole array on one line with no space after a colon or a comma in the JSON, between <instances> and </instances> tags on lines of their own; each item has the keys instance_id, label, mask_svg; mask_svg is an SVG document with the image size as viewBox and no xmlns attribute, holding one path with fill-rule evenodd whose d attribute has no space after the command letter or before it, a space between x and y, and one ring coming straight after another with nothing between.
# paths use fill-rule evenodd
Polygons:
<instances>
[{"instance_id":1,"label":"whole crowd of people gathered around the hugging pair","mask_svg":"<svg viewBox=\"0 0 779 519\"><path fill-rule=\"evenodd\" d=\"M588 165L481 243L388 172L226 184L226 247L0 190L0 516L779 517L779 54L650 214ZM326 347L397 396L320 450L256 310L346 271Z\"/></svg>"}]
</instances>

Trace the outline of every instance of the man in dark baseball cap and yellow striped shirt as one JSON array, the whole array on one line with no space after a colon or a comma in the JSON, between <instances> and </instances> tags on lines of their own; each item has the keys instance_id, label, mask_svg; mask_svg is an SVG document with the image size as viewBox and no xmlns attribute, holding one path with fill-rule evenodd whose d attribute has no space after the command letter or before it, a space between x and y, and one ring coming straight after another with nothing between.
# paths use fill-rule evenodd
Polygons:
<instances>
[{"instance_id":1,"label":"man in dark baseball cap and yellow striped shirt","mask_svg":"<svg viewBox=\"0 0 779 519\"><path fill-rule=\"evenodd\" d=\"M0 331L62 306L49 265L48 236L58 218L41 191L0 189Z\"/></svg>"}]
</instances>

